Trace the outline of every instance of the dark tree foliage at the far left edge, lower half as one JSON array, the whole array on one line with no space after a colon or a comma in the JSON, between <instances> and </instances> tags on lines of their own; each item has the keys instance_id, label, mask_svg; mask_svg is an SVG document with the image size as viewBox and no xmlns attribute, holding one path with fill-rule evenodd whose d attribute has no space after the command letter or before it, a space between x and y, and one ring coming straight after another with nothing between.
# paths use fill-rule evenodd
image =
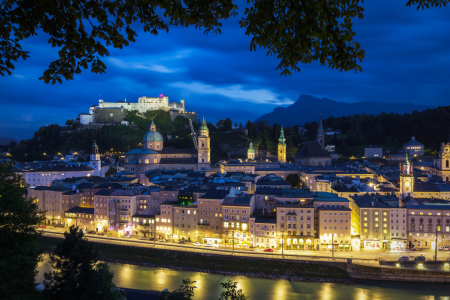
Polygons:
<instances>
[{"instance_id":1,"label":"dark tree foliage at the far left edge, lower half","mask_svg":"<svg viewBox=\"0 0 450 300\"><path fill-rule=\"evenodd\" d=\"M36 299L34 277L42 250L36 224L44 212L26 199L26 185L13 165L0 164L0 294L2 299Z\"/></svg>"}]
</instances>

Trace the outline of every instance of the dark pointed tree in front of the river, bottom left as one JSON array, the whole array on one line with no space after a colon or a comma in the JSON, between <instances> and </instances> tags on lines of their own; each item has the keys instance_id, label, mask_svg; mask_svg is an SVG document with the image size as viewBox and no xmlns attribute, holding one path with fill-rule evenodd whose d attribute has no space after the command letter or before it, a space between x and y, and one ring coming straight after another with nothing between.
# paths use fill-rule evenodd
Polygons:
<instances>
[{"instance_id":1,"label":"dark pointed tree in front of the river, bottom left","mask_svg":"<svg viewBox=\"0 0 450 300\"><path fill-rule=\"evenodd\" d=\"M114 273L99 262L100 253L84 238L83 231L72 225L64 237L50 255L54 271L44 274L46 298L125 299L124 292L112 282Z\"/></svg>"}]
</instances>

